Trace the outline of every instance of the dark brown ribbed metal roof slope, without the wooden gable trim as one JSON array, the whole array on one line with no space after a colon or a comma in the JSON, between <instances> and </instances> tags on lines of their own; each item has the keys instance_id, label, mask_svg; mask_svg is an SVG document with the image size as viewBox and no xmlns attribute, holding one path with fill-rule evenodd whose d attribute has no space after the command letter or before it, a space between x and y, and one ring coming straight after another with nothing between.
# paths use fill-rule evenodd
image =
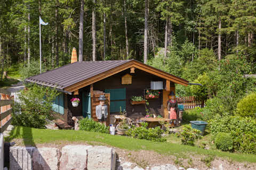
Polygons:
<instances>
[{"instance_id":1,"label":"dark brown ribbed metal roof slope, without the wooden gable trim","mask_svg":"<svg viewBox=\"0 0 256 170\"><path fill-rule=\"evenodd\" d=\"M63 89L130 61L131 60L75 62L27 78L26 81Z\"/></svg>"}]
</instances>

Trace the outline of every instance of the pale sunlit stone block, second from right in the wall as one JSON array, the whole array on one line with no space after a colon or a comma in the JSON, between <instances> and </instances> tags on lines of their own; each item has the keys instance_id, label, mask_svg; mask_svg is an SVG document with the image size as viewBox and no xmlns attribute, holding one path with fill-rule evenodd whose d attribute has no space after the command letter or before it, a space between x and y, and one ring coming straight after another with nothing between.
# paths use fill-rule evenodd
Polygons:
<instances>
[{"instance_id":1,"label":"pale sunlit stone block, second from right in the wall","mask_svg":"<svg viewBox=\"0 0 256 170\"><path fill-rule=\"evenodd\" d=\"M65 169L86 169L87 149L92 146L68 145L62 148L60 158L60 170Z\"/></svg>"}]
</instances>

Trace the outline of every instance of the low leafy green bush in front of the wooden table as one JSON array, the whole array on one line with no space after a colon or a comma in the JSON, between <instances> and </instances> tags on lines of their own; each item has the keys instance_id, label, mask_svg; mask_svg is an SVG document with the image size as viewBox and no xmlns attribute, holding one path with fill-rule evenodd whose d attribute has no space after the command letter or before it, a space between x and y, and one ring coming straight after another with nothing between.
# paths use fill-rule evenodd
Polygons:
<instances>
[{"instance_id":1,"label":"low leafy green bush in front of the wooden table","mask_svg":"<svg viewBox=\"0 0 256 170\"><path fill-rule=\"evenodd\" d=\"M161 130L159 126L157 126L156 128L147 129L148 123L141 123L141 125L142 126L138 128L133 126L125 134L131 136L132 138L153 140L157 142L166 141L166 139L162 138L162 133L164 131Z\"/></svg>"}]
</instances>

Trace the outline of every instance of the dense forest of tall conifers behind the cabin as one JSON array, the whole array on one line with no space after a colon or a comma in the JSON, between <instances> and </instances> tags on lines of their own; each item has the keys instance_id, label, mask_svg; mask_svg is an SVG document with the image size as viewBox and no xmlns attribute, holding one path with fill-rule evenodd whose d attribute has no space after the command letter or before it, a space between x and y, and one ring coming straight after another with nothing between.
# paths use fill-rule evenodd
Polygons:
<instances>
[{"instance_id":1,"label":"dense forest of tall conifers behind the cabin","mask_svg":"<svg viewBox=\"0 0 256 170\"><path fill-rule=\"evenodd\" d=\"M70 63L73 47L79 61L134 58L202 84L210 72L227 74L221 62L229 60L246 64L241 75L256 72L255 1L2 0L2 75L14 65L23 79L39 73L39 16L49 22L42 25L43 72ZM201 96L216 96L218 82L207 83Z\"/></svg>"}]
</instances>

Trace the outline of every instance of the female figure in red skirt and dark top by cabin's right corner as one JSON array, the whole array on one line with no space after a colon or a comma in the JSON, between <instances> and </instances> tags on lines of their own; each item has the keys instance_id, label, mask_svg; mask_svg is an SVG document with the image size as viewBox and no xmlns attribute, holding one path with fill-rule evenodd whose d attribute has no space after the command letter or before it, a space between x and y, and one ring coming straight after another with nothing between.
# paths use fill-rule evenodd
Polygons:
<instances>
[{"instance_id":1,"label":"female figure in red skirt and dark top by cabin's right corner","mask_svg":"<svg viewBox=\"0 0 256 170\"><path fill-rule=\"evenodd\" d=\"M167 101L167 110L169 112L169 118L172 120L172 126L174 126L174 120L176 124L178 123L178 102L175 99L175 94L173 91L171 91L169 94L169 100Z\"/></svg>"}]
</instances>

